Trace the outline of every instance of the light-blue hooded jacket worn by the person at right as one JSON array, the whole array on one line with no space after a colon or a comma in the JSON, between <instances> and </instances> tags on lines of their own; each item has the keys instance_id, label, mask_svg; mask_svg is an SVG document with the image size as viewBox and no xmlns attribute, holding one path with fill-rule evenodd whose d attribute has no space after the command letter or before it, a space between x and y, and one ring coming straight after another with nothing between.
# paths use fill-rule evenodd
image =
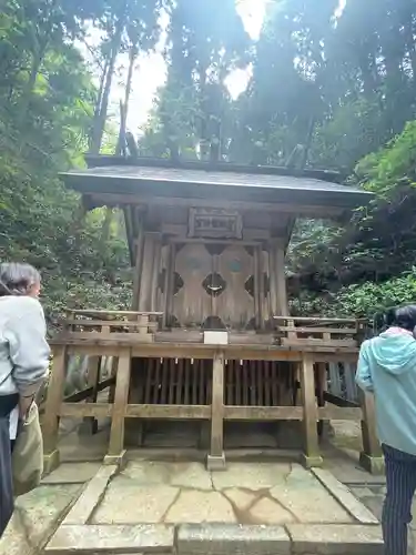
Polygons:
<instances>
[{"instance_id":1,"label":"light-blue hooded jacket worn by the person at right","mask_svg":"<svg viewBox=\"0 0 416 555\"><path fill-rule=\"evenodd\" d=\"M378 440L416 455L416 341L410 333L387 331L365 341L356 383L373 392Z\"/></svg>"}]
</instances>

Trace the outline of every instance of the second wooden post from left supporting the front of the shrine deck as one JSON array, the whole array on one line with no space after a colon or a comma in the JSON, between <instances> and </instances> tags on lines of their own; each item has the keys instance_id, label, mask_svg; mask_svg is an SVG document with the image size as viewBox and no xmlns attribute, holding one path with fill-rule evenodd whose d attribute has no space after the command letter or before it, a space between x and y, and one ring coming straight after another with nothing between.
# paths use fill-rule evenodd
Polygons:
<instances>
[{"instance_id":1,"label":"second wooden post from left supporting the front of the shrine deck","mask_svg":"<svg viewBox=\"0 0 416 555\"><path fill-rule=\"evenodd\" d=\"M109 453L104 464L123 464L124 462L124 418L129 402L131 351L123 349L119 355L119 367L115 379L115 395L111 415Z\"/></svg>"}]
</instances>

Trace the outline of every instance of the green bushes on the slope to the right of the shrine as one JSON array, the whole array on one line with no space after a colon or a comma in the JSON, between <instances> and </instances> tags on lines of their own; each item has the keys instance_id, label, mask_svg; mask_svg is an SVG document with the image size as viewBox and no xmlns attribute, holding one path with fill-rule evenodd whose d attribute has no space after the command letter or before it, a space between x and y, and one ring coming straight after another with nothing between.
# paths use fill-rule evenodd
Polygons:
<instances>
[{"instance_id":1,"label":"green bushes on the slope to the right of the shrine","mask_svg":"<svg viewBox=\"0 0 416 555\"><path fill-rule=\"evenodd\" d=\"M366 315L415 301L415 162L412 121L356 168L354 180L375 194L368 209L358 210L343 229L306 222L296 230L290 268L303 275L306 287L294 310Z\"/></svg>"}]
</instances>

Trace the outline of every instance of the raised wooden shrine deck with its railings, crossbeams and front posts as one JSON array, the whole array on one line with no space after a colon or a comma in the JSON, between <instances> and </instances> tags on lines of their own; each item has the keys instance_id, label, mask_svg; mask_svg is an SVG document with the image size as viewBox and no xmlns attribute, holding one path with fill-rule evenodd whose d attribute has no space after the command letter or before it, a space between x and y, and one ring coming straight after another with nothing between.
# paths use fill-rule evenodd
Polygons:
<instances>
[{"instance_id":1,"label":"raised wooden shrine deck with its railings, crossbeams and front posts","mask_svg":"<svg viewBox=\"0 0 416 555\"><path fill-rule=\"evenodd\" d=\"M361 321L278 316L280 345L166 344L153 340L161 315L68 313L61 335L52 342L54 366L43 417L47 468L59 460L58 423L63 416L83 418L92 431L99 418L111 418L105 458L110 464L124 457L124 426L131 424L125 418L210 421L212 467L223 467L225 461L224 422L239 420L302 421L307 465L322 461L318 421L321 428L324 421L363 421L365 456L368 461L378 456L372 400L363 396L358 406L335 394L334 366L328 367L328 363L344 369L356 363L364 333ZM74 354L89 356L88 383L64 397L68 359ZM111 357L111 373L105 376L103 356ZM347 375L343 373L344 389L354 380L353 365L348 369ZM105 389L108 398L101 393Z\"/></svg>"}]
</instances>

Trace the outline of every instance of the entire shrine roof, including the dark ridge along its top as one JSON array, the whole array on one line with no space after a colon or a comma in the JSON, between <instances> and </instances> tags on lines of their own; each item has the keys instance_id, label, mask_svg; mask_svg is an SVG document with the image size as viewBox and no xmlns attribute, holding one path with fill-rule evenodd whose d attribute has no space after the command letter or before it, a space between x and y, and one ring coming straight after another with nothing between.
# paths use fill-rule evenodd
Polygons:
<instances>
[{"instance_id":1,"label":"entire shrine roof, including the dark ridge along its top","mask_svg":"<svg viewBox=\"0 0 416 555\"><path fill-rule=\"evenodd\" d=\"M88 160L91 165L91 160ZM114 162L111 165L111 162ZM182 167L149 160L119 163L115 157L95 157L87 170L61 178L82 194L119 194L159 198L216 199L223 201L302 203L352 209L366 204L372 194L344 185L339 174L324 170L294 172L287 168L191 162ZM168 161L170 162L170 161ZM101 165L94 164L101 163ZM139 165L140 164L140 165Z\"/></svg>"}]
</instances>

